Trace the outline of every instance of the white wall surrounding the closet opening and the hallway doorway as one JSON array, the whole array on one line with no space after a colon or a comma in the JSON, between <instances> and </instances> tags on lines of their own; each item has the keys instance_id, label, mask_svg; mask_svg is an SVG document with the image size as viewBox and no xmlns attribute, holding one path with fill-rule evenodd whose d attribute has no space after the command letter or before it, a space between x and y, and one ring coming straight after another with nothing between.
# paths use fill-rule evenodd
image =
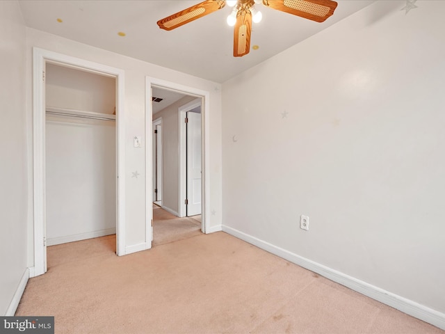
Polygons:
<instances>
[{"instance_id":1,"label":"white wall surrounding the closet opening and the hallway doorway","mask_svg":"<svg viewBox=\"0 0 445 334\"><path fill-rule=\"evenodd\" d=\"M102 63L124 70L124 133L127 138L125 144L125 246L138 248L145 242L145 77L154 77L176 84L190 86L200 90L207 90L210 94L210 208L216 214L209 217L211 226L221 223L221 148L220 148L220 85L156 66L134 58L115 54L110 51L84 45L79 42L60 38L56 35L26 28L26 56L27 56L27 113L32 116L32 48L40 47L60 54L82 58L95 63ZM155 51L155 50L154 50ZM133 148L133 137L143 138L143 148ZM148 157L151 161L151 157ZM148 163L151 163L148 161ZM138 177L132 177L138 172ZM32 174L31 174L32 177ZM149 175L151 178L151 175ZM32 191L32 188L31 188ZM31 192L32 193L32 192ZM33 222L29 221L29 233L33 234ZM31 242L30 242L31 243ZM29 252L30 266L33 265L33 253Z\"/></svg>"}]
</instances>

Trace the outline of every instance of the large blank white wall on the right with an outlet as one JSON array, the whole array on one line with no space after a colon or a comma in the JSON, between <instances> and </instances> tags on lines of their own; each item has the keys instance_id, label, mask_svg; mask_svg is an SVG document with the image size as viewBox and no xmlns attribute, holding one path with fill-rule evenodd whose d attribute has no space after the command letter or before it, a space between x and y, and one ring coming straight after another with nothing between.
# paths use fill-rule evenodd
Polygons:
<instances>
[{"instance_id":1,"label":"large blank white wall on the right with an outlet","mask_svg":"<svg viewBox=\"0 0 445 334\"><path fill-rule=\"evenodd\" d=\"M445 319L445 1L405 5L223 84L223 224Z\"/></svg>"}]
</instances>

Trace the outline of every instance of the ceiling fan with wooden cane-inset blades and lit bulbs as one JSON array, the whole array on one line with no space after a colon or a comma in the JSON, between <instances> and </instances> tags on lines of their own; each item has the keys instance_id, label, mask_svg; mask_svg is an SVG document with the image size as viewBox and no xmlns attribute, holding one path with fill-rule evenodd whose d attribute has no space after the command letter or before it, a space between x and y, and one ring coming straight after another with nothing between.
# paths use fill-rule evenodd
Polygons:
<instances>
[{"instance_id":1,"label":"ceiling fan with wooden cane-inset blades and lit bulbs","mask_svg":"<svg viewBox=\"0 0 445 334\"><path fill-rule=\"evenodd\" d=\"M253 22L261 20L261 12L254 7L255 3L280 10L285 13L323 22L330 17L337 2L331 0L206 0L180 12L160 19L159 28L172 30L195 19L216 12L226 3L233 6L232 13L227 17L227 24L234 26L234 56L241 57L250 51L250 31Z\"/></svg>"}]
</instances>

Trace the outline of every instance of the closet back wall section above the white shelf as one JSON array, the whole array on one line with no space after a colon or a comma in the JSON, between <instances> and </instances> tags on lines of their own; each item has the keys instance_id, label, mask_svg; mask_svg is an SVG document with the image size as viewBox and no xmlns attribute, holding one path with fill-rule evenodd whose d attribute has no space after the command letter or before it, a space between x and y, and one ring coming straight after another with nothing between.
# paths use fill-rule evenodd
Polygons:
<instances>
[{"instance_id":1,"label":"closet back wall section above the white shelf","mask_svg":"<svg viewBox=\"0 0 445 334\"><path fill-rule=\"evenodd\" d=\"M116 80L69 67L47 64L47 106L113 114Z\"/></svg>"}]
</instances>

